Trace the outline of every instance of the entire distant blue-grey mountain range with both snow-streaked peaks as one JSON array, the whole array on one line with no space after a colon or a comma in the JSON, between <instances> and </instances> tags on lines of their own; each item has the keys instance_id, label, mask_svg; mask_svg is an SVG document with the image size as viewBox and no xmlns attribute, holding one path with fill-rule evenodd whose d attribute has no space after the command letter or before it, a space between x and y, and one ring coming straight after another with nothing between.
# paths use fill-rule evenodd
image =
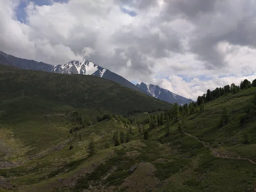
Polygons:
<instances>
[{"instance_id":1,"label":"entire distant blue-grey mountain range with both snow-streaked peaks","mask_svg":"<svg viewBox=\"0 0 256 192\"><path fill-rule=\"evenodd\" d=\"M34 60L27 60L22 58L17 58L15 56L6 54L0 51L0 63L10 66L15 66L20 69L25 70L40 70L51 73L63 73L63 74L83 74L83 75L92 75L98 76L104 79L108 79L119 83L125 87L129 87L133 90L139 91L141 93L145 93L149 96L153 96L157 99L175 103L177 102L179 105L183 105L185 103L192 102L192 99L187 99L185 97L176 95L175 93L170 92L169 90L163 89L157 85L145 83L134 85L127 79L119 76L116 73L111 72L108 69L100 67L99 65L94 64L88 60L80 61L70 61L64 65L51 65L43 62L37 62Z\"/></svg>"}]
</instances>

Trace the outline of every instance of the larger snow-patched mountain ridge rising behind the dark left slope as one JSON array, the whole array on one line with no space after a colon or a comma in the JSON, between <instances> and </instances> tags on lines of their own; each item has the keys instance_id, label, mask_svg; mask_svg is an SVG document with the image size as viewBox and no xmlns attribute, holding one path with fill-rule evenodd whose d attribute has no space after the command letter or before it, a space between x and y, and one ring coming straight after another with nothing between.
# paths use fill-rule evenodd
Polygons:
<instances>
[{"instance_id":1,"label":"larger snow-patched mountain ridge rising behind the dark left slope","mask_svg":"<svg viewBox=\"0 0 256 192\"><path fill-rule=\"evenodd\" d=\"M110 70L104 69L99 65L96 65L87 60L84 60L82 62L70 61L69 63L64 65L54 66L51 64L43 63L43 62L37 62L34 60L17 58L15 56L8 55L0 51L0 64L15 66L17 68L25 69L25 70L39 70L39 71L46 71L46 72L52 72L52 73L83 74L83 75L98 76L104 79L114 81L125 87L129 87L133 90L137 90L137 91L140 91L141 93L145 93L148 95L147 92L144 92L139 87L136 87L136 85L132 84L130 81L123 78L122 76L119 76L116 73L113 73Z\"/></svg>"}]
</instances>

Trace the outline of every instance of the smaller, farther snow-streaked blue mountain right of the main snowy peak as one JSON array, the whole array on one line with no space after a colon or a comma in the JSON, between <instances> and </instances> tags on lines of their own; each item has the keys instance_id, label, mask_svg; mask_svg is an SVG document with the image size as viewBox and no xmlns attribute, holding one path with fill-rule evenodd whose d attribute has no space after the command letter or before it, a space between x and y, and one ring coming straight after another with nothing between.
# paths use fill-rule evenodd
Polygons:
<instances>
[{"instance_id":1,"label":"smaller, farther snow-streaked blue mountain right of the main snowy peak","mask_svg":"<svg viewBox=\"0 0 256 192\"><path fill-rule=\"evenodd\" d=\"M149 95L169 103L177 102L179 105L184 105L186 103L189 104L190 102L193 102L192 99L179 96L167 89L159 87L158 85L141 83L137 84L136 86L142 89L144 92L147 92Z\"/></svg>"}]
</instances>

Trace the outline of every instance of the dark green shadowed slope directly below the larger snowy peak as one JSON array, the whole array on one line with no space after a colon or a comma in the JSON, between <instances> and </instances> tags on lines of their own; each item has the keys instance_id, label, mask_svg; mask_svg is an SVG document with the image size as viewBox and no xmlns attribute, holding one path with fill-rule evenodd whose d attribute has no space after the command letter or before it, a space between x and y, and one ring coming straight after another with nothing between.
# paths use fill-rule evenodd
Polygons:
<instances>
[{"instance_id":1,"label":"dark green shadowed slope directly below the larger snowy peak","mask_svg":"<svg viewBox=\"0 0 256 192\"><path fill-rule=\"evenodd\" d=\"M127 114L132 110L148 111L171 106L95 76L20 70L3 65L0 65L0 90L1 108L15 108L16 112L19 108L69 105Z\"/></svg>"}]
</instances>

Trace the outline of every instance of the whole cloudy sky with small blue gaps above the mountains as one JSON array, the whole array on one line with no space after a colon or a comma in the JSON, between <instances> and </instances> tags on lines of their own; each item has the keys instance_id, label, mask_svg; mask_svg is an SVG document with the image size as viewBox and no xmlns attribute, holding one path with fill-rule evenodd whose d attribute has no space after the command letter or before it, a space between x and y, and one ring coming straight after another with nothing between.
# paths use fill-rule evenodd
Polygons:
<instances>
[{"instance_id":1,"label":"whole cloudy sky with small blue gaps above the mountains","mask_svg":"<svg viewBox=\"0 0 256 192\"><path fill-rule=\"evenodd\" d=\"M196 100L256 79L255 0L0 0L0 51L87 59Z\"/></svg>"}]
</instances>

